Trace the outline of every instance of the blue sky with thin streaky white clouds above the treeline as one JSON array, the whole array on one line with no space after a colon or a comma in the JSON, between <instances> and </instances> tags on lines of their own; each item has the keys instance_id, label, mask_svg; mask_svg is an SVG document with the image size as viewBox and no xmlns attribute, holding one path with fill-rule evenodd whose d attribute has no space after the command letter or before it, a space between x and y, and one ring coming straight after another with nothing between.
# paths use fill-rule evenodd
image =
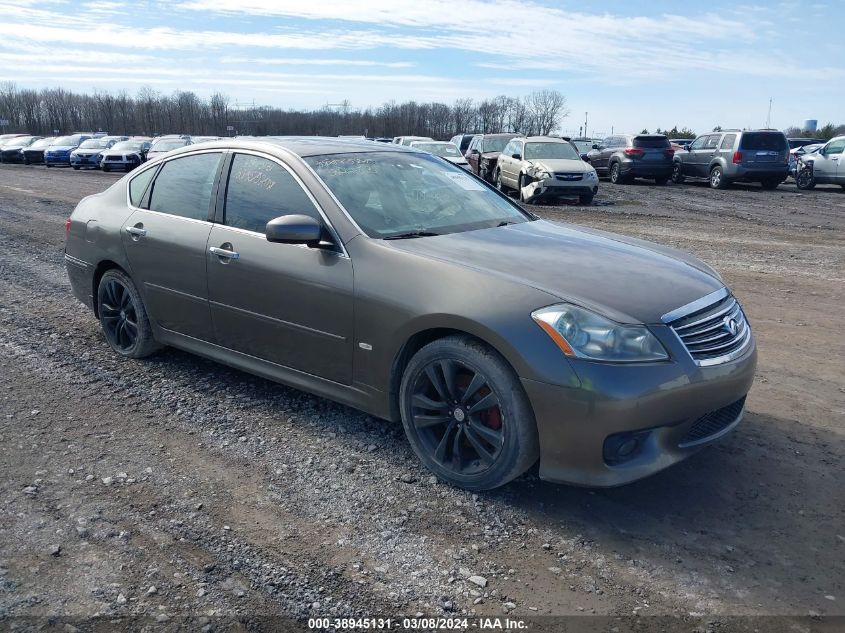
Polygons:
<instances>
[{"instance_id":1,"label":"blue sky with thin streaky white clouds above the treeline","mask_svg":"<svg viewBox=\"0 0 845 633\"><path fill-rule=\"evenodd\" d=\"M0 81L316 109L552 88L562 133L845 123L845 0L0 0ZM588 114L585 114L588 113Z\"/></svg>"}]
</instances>

